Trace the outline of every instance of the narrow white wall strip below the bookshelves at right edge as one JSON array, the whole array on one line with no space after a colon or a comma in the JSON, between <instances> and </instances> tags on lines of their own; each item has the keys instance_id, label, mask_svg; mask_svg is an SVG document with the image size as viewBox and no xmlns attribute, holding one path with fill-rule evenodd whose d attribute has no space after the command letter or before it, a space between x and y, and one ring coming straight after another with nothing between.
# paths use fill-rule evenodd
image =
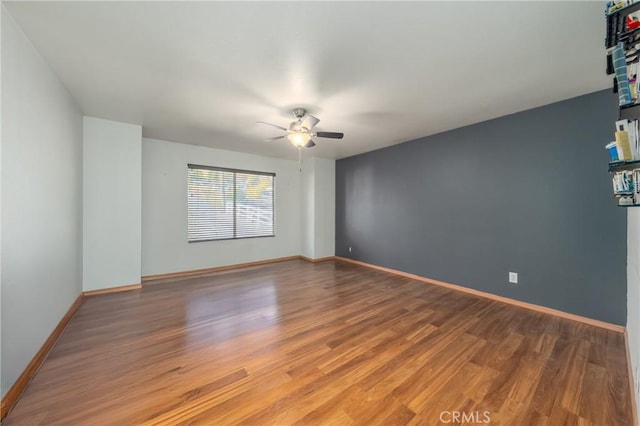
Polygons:
<instances>
[{"instance_id":1,"label":"narrow white wall strip below the bookshelves at right edge","mask_svg":"<svg viewBox=\"0 0 640 426\"><path fill-rule=\"evenodd\" d=\"M638 381L640 372L640 208L627 213L627 337L631 352L631 366ZM640 407L640 395L636 389Z\"/></svg>"}]
</instances>

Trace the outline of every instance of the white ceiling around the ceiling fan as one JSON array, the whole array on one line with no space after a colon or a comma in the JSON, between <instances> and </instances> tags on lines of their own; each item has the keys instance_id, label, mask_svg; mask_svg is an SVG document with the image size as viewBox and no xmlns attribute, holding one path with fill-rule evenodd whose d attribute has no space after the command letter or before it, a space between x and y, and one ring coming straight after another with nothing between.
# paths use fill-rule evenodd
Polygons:
<instances>
[{"instance_id":1,"label":"white ceiling around the ceiling fan","mask_svg":"<svg viewBox=\"0 0 640 426\"><path fill-rule=\"evenodd\" d=\"M296 106L343 158L611 86L604 2L4 4L84 114L283 158Z\"/></svg>"}]
</instances>

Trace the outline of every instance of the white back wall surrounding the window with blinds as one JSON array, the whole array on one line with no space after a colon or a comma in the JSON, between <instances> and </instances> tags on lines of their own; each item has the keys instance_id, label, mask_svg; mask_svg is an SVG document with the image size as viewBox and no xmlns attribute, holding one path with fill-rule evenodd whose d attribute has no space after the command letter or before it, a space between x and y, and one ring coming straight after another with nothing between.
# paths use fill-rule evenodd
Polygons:
<instances>
[{"instance_id":1,"label":"white back wall surrounding the window with blinds","mask_svg":"<svg viewBox=\"0 0 640 426\"><path fill-rule=\"evenodd\" d=\"M276 174L275 237L187 242L187 164ZM300 254L300 171L295 161L142 140L142 275Z\"/></svg>"}]
</instances>

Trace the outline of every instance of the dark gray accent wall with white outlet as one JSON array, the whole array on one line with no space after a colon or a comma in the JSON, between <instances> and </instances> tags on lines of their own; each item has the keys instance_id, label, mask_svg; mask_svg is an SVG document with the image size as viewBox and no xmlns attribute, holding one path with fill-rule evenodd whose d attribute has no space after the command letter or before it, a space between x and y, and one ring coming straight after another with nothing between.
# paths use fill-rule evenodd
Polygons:
<instances>
[{"instance_id":1,"label":"dark gray accent wall with white outlet","mask_svg":"<svg viewBox=\"0 0 640 426\"><path fill-rule=\"evenodd\" d=\"M600 91L339 160L336 255L623 325L616 116Z\"/></svg>"}]
</instances>

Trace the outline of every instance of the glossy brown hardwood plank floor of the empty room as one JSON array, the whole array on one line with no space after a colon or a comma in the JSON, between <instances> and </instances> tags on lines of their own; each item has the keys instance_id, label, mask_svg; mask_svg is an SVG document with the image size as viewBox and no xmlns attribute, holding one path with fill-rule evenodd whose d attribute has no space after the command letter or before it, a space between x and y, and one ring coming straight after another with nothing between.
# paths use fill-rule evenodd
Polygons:
<instances>
[{"instance_id":1,"label":"glossy brown hardwood plank floor of the empty room","mask_svg":"<svg viewBox=\"0 0 640 426\"><path fill-rule=\"evenodd\" d=\"M339 261L291 260L87 298L3 424L631 418L622 334Z\"/></svg>"}]
</instances>

